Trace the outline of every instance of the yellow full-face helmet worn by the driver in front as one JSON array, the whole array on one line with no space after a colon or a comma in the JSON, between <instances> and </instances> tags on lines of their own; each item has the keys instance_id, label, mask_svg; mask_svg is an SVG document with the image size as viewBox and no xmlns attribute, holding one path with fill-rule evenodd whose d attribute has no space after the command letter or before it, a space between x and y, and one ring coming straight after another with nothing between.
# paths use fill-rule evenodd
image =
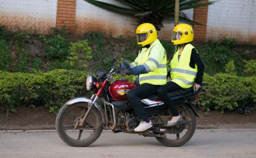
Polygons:
<instances>
[{"instance_id":1,"label":"yellow full-face helmet worn by the driver in front","mask_svg":"<svg viewBox=\"0 0 256 158\"><path fill-rule=\"evenodd\" d=\"M137 43L146 46L157 39L157 29L151 23L143 23L136 29Z\"/></svg>"}]
</instances>

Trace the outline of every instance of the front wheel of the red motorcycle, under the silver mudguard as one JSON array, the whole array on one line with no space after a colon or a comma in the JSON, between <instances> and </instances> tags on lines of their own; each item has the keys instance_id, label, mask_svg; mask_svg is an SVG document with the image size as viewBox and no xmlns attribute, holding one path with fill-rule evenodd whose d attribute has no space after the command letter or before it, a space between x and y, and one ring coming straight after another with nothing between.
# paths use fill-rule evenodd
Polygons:
<instances>
[{"instance_id":1,"label":"front wheel of the red motorcycle, under the silver mudguard","mask_svg":"<svg viewBox=\"0 0 256 158\"><path fill-rule=\"evenodd\" d=\"M74 129L88 109L88 103L64 105L56 118L56 130L66 144L73 147L86 147L95 142L102 132L102 117L97 108L93 108L88 118Z\"/></svg>"}]
</instances>

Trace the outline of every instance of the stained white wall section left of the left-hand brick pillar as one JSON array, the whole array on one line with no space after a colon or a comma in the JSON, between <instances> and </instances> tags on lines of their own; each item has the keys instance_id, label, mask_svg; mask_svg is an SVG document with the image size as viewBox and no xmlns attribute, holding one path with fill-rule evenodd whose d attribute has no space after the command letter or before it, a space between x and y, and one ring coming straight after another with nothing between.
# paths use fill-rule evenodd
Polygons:
<instances>
[{"instance_id":1,"label":"stained white wall section left of the left-hand brick pillar","mask_svg":"<svg viewBox=\"0 0 256 158\"><path fill-rule=\"evenodd\" d=\"M48 34L56 26L57 0L0 0L0 24Z\"/></svg>"}]
</instances>

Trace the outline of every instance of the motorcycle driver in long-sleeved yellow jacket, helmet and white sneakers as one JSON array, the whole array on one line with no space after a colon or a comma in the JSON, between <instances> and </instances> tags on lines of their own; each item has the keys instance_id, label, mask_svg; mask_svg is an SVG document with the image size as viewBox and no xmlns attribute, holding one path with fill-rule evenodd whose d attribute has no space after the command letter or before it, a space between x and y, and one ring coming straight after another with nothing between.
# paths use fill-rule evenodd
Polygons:
<instances>
[{"instance_id":1,"label":"motorcycle driver in long-sleeved yellow jacket, helmet and white sneakers","mask_svg":"<svg viewBox=\"0 0 256 158\"><path fill-rule=\"evenodd\" d=\"M142 49L134 62L130 63L129 69L124 69L121 75L133 74L137 76L139 86L127 93L138 119L139 126L134 131L145 131L152 127L146 110L140 101L142 97L154 95L159 85L166 84L166 51L157 39L157 30L150 23L143 23L136 29L137 43Z\"/></svg>"}]
</instances>

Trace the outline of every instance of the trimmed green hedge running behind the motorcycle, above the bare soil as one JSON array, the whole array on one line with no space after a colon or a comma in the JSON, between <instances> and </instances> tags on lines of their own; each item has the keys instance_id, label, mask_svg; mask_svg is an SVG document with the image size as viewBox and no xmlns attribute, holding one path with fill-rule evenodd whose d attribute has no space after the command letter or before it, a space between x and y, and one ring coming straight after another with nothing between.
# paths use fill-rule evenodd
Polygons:
<instances>
[{"instance_id":1,"label":"trimmed green hedge running behind the motorcycle, above the bare soil","mask_svg":"<svg viewBox=\"0 0 256 158\"><path fill-rule=\"evenodd\" d=\"M71 98L85 96L89 72L56 69L46 73L9 73L0 71L0 106L15 112L13 106L45 105L57 114ZM123 76L115 76L116 79ZM124 78L133 80L133 76ZM256 76L240 77L225 73L204 74L204 87L197 102L202 109L249 113L256 107Z\"/></svg>"}]
</instances>

